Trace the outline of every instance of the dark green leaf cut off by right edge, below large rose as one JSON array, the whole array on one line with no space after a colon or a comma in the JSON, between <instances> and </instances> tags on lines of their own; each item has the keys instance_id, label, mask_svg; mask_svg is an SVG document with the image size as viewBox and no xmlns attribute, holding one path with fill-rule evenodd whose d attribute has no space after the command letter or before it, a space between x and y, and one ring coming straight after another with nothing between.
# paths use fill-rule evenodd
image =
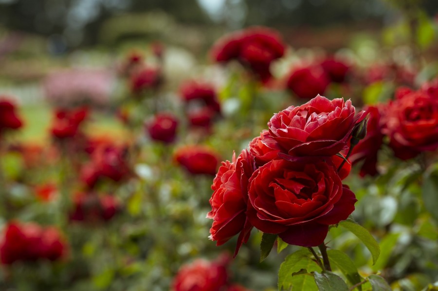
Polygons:
<instances>
[{"instance_id":1,"label":"dark green leaf cut off by right edge, below large rose","mask_svg":"<svg viewBox=\"0 0 438 291\"><path fill-rule=\"evenodd\" d=\"M424 207L438 221L438 164L432 165L424 172L421 192Z\"/></svg>"}]
</instances>

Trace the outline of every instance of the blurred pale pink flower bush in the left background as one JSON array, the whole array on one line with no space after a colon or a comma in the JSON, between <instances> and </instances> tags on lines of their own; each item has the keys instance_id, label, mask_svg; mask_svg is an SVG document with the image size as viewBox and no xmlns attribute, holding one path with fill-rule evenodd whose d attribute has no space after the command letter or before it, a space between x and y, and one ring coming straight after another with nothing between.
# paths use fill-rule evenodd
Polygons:
<instances>
[{"instance_id":1,"label":"blurred pale pink flower bush in the left background","mask_svg":"<svg viewBox=\"0 0 438 291\"><path fill-rule=\"evenodd\" d=\"M57 106L105 105L110 102L113 83L107 69L69 69L52 72L43 89L47 100Z\"/></svg>"}]
</instances>

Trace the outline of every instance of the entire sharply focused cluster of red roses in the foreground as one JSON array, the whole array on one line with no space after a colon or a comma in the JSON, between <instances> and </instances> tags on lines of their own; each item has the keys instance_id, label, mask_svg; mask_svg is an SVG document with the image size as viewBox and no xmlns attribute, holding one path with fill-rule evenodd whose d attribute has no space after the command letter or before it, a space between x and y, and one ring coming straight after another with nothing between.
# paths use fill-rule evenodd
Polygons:
<instances>
[{"instance_id":1,"label":"entire sharply focused cluster of red roses in the foreground","mask_svg":"<svg viewBox=\"0 0 438 291\"><path fill-rule=\"evenodd\" d=\"M221 245L239 234L235 255L253 227L289 244L323 243L329 225L347 219L357 201L342 183L350 167L337 154L364 117L349 100L320 95L274 114L268 130L219 168L210 239Z\"/></svg>"}]
</instances>

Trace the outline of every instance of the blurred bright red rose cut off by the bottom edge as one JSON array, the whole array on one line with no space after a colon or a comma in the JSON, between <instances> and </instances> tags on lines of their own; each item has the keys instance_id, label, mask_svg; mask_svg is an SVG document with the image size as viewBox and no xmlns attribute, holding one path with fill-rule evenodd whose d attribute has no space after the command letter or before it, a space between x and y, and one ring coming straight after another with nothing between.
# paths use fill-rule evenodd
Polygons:
<instances>
[{"instance_id":1,"label":"blurred bright red rose cut off by the bottom edge","mask_svg":"<svg viewBox=\"0 0 438 291\"><path fill-rule=\"evenodd\" d=\"M172 291L222 291L227 285L226 267L218 262L197 259L183 265L172 282Z\"/></svg>"}]
</instances>

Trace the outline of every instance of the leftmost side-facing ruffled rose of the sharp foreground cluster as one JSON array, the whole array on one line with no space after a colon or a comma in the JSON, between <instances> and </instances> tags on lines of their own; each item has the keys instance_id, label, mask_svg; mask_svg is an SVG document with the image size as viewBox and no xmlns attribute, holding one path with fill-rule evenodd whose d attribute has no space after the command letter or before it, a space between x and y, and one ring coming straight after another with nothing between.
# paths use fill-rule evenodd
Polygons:
<instances>
[{"instance_id":1,"label":"leftmost side-facing ruffled rose of the sharp foreground cluster","mask_svg":"<svg viewBox=\"0 0 438 291\"><path fill-rule=\"evenodd\" d=\"M232 162L222 162L218 174L211 186L211 211L207 218L213 219L210 240L221 245L239 233L235 256L242 245L247 242L253 226L246 217L248 204L248 180L255 170L254 159L247 150L237 157L233 154Z\"/></svg>"}]
</instances>

